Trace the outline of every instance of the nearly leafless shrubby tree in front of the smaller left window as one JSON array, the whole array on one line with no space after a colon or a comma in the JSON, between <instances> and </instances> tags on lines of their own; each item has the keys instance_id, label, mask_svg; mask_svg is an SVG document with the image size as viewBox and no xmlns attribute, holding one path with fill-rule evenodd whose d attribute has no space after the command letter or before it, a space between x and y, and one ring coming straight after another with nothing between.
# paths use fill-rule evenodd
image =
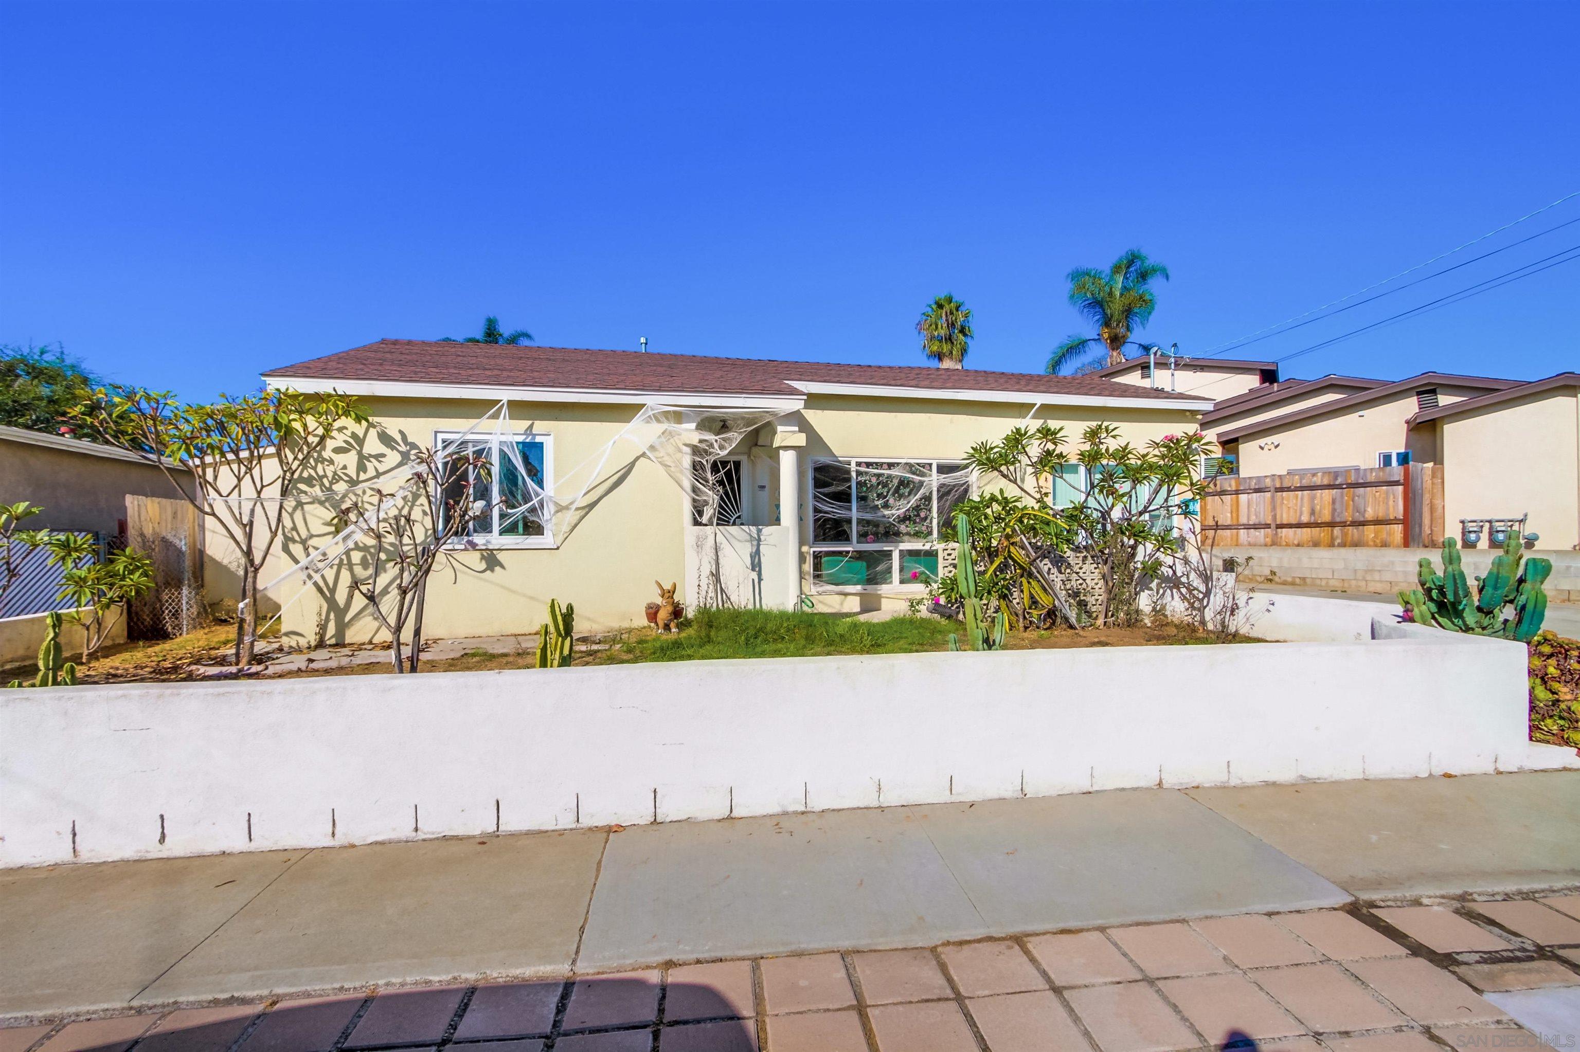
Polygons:
<instances>
[{"instance_id":1,"label":"nearly leafless shrubby tree in front of the smaller left window","mask_svg":"<svg viewBox=\"0 0 1580 1052\"><path fill-rule=\"evenodd\" d=\"M365 575L352 577L351 588L389 632L398 673L417 671L422 657L422 608L433 567L453 558L453 542L474 521L493 515L488 456L463 449L442 458L416 450L412 458L417 468L406 485L362 490L340 512L341 523L360 524L371 545Z\"/></svg>"}]
</instances>

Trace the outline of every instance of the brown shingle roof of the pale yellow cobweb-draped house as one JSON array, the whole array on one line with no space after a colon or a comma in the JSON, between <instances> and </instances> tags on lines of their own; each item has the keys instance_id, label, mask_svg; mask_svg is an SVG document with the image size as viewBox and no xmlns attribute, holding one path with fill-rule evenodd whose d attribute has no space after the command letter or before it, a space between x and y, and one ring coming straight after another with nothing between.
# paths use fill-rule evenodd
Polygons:
<instances>
[{"instance_id":1,"label":"brown shingle roof of the pale yellow cobweb-draped house","mask_svg":"<svg viewBox=\"0 0 1580 1052\"><path fill-rule=\"evenodd\" d=\"M1002 390L1024 395L1098 398L1209 400L1133 387L1093 376L940 370L920 365L836 365L714 359L692 354L514 348L487 343L379 340L321 359L264 373L272 379L390 381L408 384L480 384L572 390L684 392L698 395L779 395L801 392L788 381L871 384L931 390Z\"/></svg>"}]
</instances>

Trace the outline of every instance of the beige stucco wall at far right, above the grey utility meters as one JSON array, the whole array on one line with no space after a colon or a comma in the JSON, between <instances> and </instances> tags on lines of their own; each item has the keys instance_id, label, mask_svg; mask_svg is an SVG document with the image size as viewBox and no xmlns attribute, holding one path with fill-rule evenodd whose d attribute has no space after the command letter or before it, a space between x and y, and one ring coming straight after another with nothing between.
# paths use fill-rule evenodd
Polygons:
<instances>
[{"instance_id":1,"label":"beige stucco wall at far right, above the grey utility meters","mask_svg":"<svg viewBox=\"0 0 1580 1052\"><path fill-rule=\"evenodd\" d=\"M1529 513L1537 548L1580 545L1580 398L1537 392L1439 420L1443 510L1462 518ZM1487 545L1484 537L1482 545Z\"/></svg>"}]
</instances>

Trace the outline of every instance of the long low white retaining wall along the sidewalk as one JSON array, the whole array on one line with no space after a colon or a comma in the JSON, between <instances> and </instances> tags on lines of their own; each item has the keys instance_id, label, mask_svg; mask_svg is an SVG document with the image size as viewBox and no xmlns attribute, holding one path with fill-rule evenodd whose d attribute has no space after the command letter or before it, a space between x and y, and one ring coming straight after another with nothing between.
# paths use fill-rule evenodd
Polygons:
<instances>
[{"instance_id":1,"label":"long low white retaining wall along the sidewalk","mask_svg":"<svg viewBox=\"0 0 1580 1052\"><path fill-rule=\"evenodd\" d=\"M0 864L1528 763L1522 644L1378 630L0 692Z\"/></svg>"}]
</instances>

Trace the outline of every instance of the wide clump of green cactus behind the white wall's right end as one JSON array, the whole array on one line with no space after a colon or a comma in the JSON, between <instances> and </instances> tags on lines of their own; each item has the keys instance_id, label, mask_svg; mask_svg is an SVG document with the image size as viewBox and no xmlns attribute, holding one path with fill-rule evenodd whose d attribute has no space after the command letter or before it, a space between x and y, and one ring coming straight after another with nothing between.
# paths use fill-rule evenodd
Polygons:
<instances>
[{"instance_id":1,"label":"wide clump of green cactus behind the white wall's right end","mask_svg":"<svg viewBox=\"0 0 1580 1052\"><path fill-rule=\"evenodd\" d=\"M1529 643L1547 616L1542 581L1552 572L1552 561L1526 559L1520 537L1509 534L1487 575L1476 578L1477 594L1473 599L1458 543L1444 537L1443 573L1433 570L1431 559L1422 559L1416 573L1420 588L1400 591L1398 602L1416 624ZM1507 607L1512 610L1506 618Z\"/></svg>"}]
</instances>

